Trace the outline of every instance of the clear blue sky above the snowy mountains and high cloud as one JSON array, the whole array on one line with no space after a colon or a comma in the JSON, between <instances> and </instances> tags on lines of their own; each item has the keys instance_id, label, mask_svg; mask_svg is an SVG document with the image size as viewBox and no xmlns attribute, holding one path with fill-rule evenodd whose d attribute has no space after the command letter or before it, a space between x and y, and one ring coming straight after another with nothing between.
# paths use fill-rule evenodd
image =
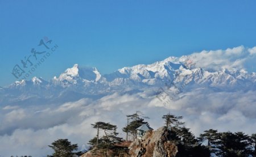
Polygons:
<instances>
[{"instance_id":1,"label":"clear blue sky above the snowy mountains and high cloud","mask_svg":"<svg viewBox=\"0 0 256 157\"><path fill-rule=\"evenodd\" d=\"M256 1L0 1L0 86L44 36L59 48L32 74L75 63L111 73L169 56L255 46Z\"/></svg>"}]
</instances>

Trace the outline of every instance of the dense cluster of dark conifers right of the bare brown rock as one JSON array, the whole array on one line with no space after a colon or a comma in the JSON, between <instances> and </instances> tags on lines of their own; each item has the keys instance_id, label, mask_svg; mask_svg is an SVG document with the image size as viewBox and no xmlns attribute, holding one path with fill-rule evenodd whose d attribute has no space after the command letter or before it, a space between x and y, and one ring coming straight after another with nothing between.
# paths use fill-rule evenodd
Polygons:
<instances>
[{"instance_id":1,"label":"dense cluster of dark conifers right of the bare brown rock","mask_svg":"<svg viewBox=\"0 0 256 157\"><path fill-rule=\"evenodd\" d=\"M256 156L256 134L249 137L242 132L218 133L217 130L209 129L196 139L189 128L180 127L184 124L179 121L181 116L168 113L162 118L169 129L168 139L178 146L177 156L210 156L210 153L223 157ZM203 145L205 142L206 146Z\"/></svg>"}]
</instances>

